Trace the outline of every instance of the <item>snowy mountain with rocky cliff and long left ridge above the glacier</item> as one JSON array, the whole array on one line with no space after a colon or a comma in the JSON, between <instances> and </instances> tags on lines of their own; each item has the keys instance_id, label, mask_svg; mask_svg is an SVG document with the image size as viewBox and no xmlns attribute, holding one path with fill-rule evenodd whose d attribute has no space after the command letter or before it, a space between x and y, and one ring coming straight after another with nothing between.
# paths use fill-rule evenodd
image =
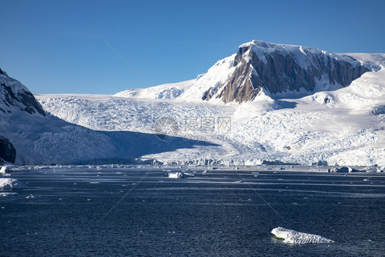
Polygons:
<instances>
[{"instance_id":1,"label":"snowy mountain with rocky cliff and long left ridge above the glacier","mask_svg":"<svg viewBox=\"0 0 385 257\"><path fill-rule=\"evenodd\" d=\"M128 89L115 96L225 103L243 103L264 95L275 99L303 97L349 86L363 73L380 70L384 59L384 54L329 53L253 40L197 79Z\"/></svg>"}]
</instances>

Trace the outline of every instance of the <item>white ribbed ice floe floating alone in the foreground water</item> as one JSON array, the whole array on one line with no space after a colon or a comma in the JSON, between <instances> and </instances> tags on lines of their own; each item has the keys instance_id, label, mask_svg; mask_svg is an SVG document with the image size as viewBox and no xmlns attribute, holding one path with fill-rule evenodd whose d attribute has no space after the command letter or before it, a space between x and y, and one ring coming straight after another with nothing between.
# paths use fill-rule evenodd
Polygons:
<instances>
[{"instance_id":1,"label":"white ribbed ice floe floating alone in the foreground water","mask_svg":"<svg viewBox=\"0 0 385 257\"><path fill-rule=\"evenodd\" d=\"M305 243L333 243L334 241L316 234L307 234L297 232L295 230L288 230L287 228L274 228L271 230L272 234L279 238L284 238L284 243L305 244Z\"/></svg>"}]
</instances>

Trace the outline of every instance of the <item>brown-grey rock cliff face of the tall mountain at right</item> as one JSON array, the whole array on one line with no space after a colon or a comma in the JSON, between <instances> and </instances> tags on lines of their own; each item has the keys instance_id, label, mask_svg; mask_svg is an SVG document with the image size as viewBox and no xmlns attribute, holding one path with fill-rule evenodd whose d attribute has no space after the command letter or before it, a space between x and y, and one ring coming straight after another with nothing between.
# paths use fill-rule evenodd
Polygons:
<instances>
[{"instance_id":1,"label":"brown-grey rock cliff face of the tall mountain at right","mask_svg":"<svg viewBox=\"0 0 385 257\"><path fill-rule=\"evenodd\" d=\"M300 90L314 93L321 84L349 86L369 71L349 56L256 40L239 47L233 67L229 79L203 93L203 100L216 97L225 103L242 103L253 100L261 90L272 96Z\"/></svg>"}]
</instances>

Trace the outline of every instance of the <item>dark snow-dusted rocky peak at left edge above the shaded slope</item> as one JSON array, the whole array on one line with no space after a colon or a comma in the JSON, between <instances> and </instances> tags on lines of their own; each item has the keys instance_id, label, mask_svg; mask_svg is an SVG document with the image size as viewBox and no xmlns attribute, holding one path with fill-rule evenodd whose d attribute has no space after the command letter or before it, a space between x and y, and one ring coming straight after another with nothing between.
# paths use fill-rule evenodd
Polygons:
<instances>
[{"instance_id":1,"label":"dark snow-dusted rocky peak at left edge above the shaded slope","mask_svg":"<svg viewBox=\"0 0 385 257\"><path fill-rule=\"evenodd\" d=\"M1 112L12 113L14 110L45 116L45 111L34 95L0 69L0 114Z\"/></svg>"}]
</instances>

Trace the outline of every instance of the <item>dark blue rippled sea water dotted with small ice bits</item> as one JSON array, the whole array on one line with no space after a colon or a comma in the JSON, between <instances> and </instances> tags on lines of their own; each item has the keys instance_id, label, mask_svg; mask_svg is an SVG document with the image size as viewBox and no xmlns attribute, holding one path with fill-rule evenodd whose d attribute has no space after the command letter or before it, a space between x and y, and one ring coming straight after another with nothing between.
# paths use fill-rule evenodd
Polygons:
<instances>
[{"instance_id":1,"label":"dark blue rippled sea water dotted with small ice bits","mask_svg":"<svg viewBox=\"0 0 385 257\"><path fill-rule=\"evenodd\" d=\"M0 256L384 256L383 173L279 168L17 171L29 188L0 196ZM335 243L287 245L278 226Z\"/></svg>"}]
</instances>

